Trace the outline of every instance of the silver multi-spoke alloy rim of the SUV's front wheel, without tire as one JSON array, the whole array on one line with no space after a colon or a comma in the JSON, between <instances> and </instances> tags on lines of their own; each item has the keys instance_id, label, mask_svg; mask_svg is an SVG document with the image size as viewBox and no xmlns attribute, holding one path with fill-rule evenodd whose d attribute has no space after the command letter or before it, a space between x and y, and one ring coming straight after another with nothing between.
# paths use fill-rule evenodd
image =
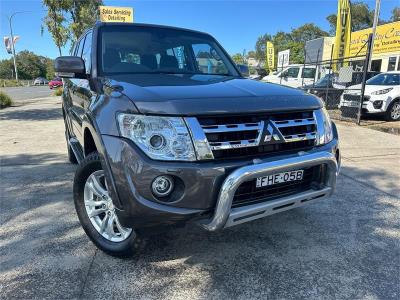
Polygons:
<instances>
[{"instance_id":1,"label":"silver multi-spoke alloy rim of the SUV's front wheel, without tire","mask_svg":"<svg viewBox=\"0 0 400 300\"><path fill-rule=\"evenodd\" d=\"M103 170L95 171L86 180L84 202L90 222L102 237L122 242L130 236L132 229L123 227L115 213Z\"/></svg>"}]
</instances>

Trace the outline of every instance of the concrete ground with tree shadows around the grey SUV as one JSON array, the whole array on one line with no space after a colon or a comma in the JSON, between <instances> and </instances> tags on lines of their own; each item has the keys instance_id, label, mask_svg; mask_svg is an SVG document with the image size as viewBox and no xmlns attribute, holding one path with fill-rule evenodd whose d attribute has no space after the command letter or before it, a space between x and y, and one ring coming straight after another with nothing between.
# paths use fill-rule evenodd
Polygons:
<instances>
[{"instance_id":1,"label":"concrete ground with tree shadows around the grey SUV","mask_svg":"<svg viewBox=\"0 0 400 300\"><path fill-rule=\"evenodd\" d=\"M399 299L399 136L339 123L331 199L116 259L79 225L60 106L0 111L0 299Z\"/></svg>"}]
</instances>

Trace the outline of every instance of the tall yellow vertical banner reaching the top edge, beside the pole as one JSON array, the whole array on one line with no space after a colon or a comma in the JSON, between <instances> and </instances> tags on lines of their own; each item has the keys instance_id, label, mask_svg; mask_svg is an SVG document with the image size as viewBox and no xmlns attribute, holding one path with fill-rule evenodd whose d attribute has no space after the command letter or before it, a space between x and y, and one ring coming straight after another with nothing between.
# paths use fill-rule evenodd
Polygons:
<instances>
[{"instance_id":1,"label":"tall yellow vertical banner reaching the top edge, beside the pole","mask_svg":"<svg viewBox=\"0 0 400 300\"><path fill-rule=\"evenodd\" d=\"M349 53L351 33L350 1L338 0L338 14L336 21L336 37L334 55L335 59L345 57Z\"/></svg>"}]
</instances>

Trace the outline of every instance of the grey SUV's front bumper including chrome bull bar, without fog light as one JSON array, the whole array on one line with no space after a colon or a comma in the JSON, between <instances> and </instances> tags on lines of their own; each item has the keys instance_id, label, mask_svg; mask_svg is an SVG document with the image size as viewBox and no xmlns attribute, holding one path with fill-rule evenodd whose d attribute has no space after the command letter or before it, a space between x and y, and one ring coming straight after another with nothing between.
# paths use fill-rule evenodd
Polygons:
<instances>
[{"instance_id":1,"label":"grey SUV's front bumper including chrome bull bar, without fog light","mask_svg":"<svg viewBox=\"0 0 400 300\"><path fill-rule=\"evenodd\" d=\"M104 158L111 169L116 191L112 195L120 222L143 228L198 221L207 230L218 230L329 196L335 187L340 153L337 132L332 142L307 152L268 156L263 159L211 162L161 162L149 159L129 140L102 136ZM231 208L241 182L301 167L326 164L324 187L287 198ZM151 193L152 180L168 174L182 180L184 193L168 203Z\"/></svg>"}]
</instances>

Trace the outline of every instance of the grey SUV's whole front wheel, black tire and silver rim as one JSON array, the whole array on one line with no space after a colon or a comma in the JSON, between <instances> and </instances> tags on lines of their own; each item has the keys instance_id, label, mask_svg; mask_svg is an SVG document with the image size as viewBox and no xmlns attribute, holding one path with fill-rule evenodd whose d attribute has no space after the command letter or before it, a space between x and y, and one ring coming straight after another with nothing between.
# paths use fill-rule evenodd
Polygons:
<instances>
[{"instance_id":1,"label":"grey SUV's whole front wheel, black tire and silver rim","mask_svg":"<svg viewBox=\"0 0 400 300\"><path fill-rule=\"evenodd\" d=\"M85 233L100 250L116 257L132 256L140 239L133 229L121 226L112 199L103 190L107 192L104 170L100 155L93 152L79 164L75 173L76 213Z\"/></svg>"}]
</instances>

